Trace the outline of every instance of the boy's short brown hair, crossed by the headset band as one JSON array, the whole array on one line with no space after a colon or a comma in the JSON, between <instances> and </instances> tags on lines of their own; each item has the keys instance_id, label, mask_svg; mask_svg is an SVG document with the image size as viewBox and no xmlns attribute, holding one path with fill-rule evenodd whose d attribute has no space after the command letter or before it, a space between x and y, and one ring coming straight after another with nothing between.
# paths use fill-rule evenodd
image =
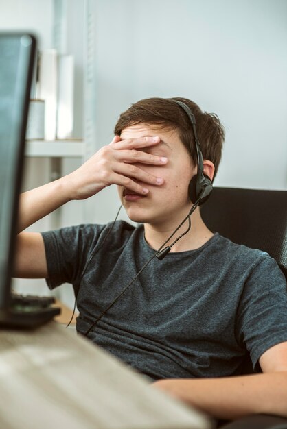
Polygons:
<instances>
[{"instance_id":1,"label":"boy's short brown hair, crossed by the headset band","mask_svg":"<svg viewBox=\"0 0 287 429\"><path fill-rule=\"evenodd\" d=\"M174 103L173 100L182 101L192 110L196 119L196 130L203 159L214 163L215 177L220 163L225 130L216 114L202 112L194 101L180 97L170 99L154 97L137 101L120 115L115 125L115 135L120 136L126 127L138 123L157 125L161 130L177 130L179 138L185 145L194 165L197 165L194 134L190 119L183 108Z\"/></svg>"}]
</instances>

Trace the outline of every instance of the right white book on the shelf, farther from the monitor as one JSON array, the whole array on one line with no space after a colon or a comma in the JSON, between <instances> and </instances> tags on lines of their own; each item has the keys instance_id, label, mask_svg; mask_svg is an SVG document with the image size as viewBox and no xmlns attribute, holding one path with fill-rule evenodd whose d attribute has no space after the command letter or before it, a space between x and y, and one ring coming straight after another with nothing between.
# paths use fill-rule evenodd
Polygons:
<instances>
[{"instance_id":1,"label":"right white book on the shelf, farther from the monitor","mask_svg":"<svg viewBox=\"0 0 287 429\"><path fill-rule=\"evenodd\" d=\"M58 56L57 138L71 138L73 133L74 58Z\"/></svg>"}]
</instances>

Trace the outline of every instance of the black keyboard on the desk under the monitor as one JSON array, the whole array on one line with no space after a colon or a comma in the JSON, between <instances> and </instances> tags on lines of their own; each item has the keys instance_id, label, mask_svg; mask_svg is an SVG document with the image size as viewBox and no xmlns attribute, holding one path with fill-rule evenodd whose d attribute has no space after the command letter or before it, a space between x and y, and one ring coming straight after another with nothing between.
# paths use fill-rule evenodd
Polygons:
<instances>
[{"instance_id":1,"label":"black keyboard on the desk under the monitor","mask_svg":"<svg viewBox=\"0 0 287 429\"><path fill-rule=\"evenodd\" d=\"M36 328L60 314L60 308L53 306L54 297L38 297L11 293L10 308L1 326L6 328Z\"/></svg>"}]
</instances>

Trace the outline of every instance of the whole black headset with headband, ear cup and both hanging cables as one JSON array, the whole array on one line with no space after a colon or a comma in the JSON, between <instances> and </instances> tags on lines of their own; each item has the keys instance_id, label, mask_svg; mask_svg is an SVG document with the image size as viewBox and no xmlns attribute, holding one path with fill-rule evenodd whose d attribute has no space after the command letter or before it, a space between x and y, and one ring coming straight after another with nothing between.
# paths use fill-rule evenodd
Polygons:
<instances>
[{"instance_id":1,"label":"whole black headset with headband, ear cup and both hanging cables","mask_svg":"<svg viewBox=\"0 0 287 429\"><path fill-rule=\"evenodd\" d=\"M183 219L183 221L179 224L179 226L176 228L176 230L174 230L174 232L172 232L172 234L168 237L168 239L165 241L165 243L163 243L163 245L161 245L161 247L159 247L159 249L157 249L157 251L154 252L154 254L152 255L152 257L146 262L145 265L143 265L143 267L140 269L140 271L137 273L137 275L135 275L135 277L130 280L130 282L124 286L124 288L122 289L122 291L120 291L120 293L115 297L115 299L113 299L113 301L104 309L104 311L102 311L102 313L95 318L95 320L93 321L93 323L91 323L91 325L89 326L88 330L86 332L84 332L84 336L87 336L89 334L89 332L91 331L91 329L95 326L95 324L100 321L100 319L102 319L102 317L106 314L106 312L117 302L117 300L122 297L122 295L124 294L124 292L126 291L126 289L128 289L130 287L131 284L133 284L133 282L135 282L135 280L139 277L139 275L141 274L141 272L146 269L146 267L148 266L148 264L152 261L152 259L154 259L155 257L157 257L158 260L162 260L167 254L168 252L170 252L171 247L176 243L176 241L179 241L179 239L184 236L185 234L187 234L187 232L190 231L191 228L191 220L190 217L192 215L192 213L194 212L194 210L200 206L200 204L203 204L205 201L207 201L209 195L211 194L212 191L212 182L209 179L209 177L207 177L207 175L205 175L203 173L203 153L201 151L200 148L200 142L198 140L198 136L197 136L197 132L196 132L196 120L194 117L194 114L192 113L192 110L190 110L190 108L187 106L187 104L183 103L182 101L176 100L176 99L171 99L172 101L174 101L175 103L177 103L181 108L183 108L183 110L185 111L185 113L187 114L187 117L190 119L190 123L192 125L192 130L193 130L193 134L194 134L194 142L196 145L196 157L197 157L197 165L198 165L198 170L196 175L194 175L194 177L192 177L192 180L190 180L190 184L188 186L188 196L190 197L190 201L192 201L192 208L190 209L190 212L188 213L188 215L185 217L185 219ZM122 206L119 208L119 210L122 208ZM119 215L119 211L117 212L117 216ZM104 241L102 243L102 245L104 244L104 242L106 241L106 238L108 237L108 235L111 233L111 230L113 229L113 226L115 225L115 221L117 220L117 216L115 218L115 220L113 221L113 225L111 225L111 228L108 230L106 236L104 237ZM165 245L168 243L168 241L170 241L170 238L172 238L174 236L174 234L176 234L176 232L179 230L179 228L181 228L181 226L183 225L183 223L185 223L185 221L188 220L188 228L187 230L185 230L185 232L183 232L183 234L181 234L179 237L177 237L172 244L167 245L165 247ZM100 247L102 247L102 245ZM98 250L98 249L97 249ZM84 272L87 269L87 266L89 265L89 262L91 261L91 259L93 258L93 256L95 256L95 253L97 251L95 251L95 249L93 250L93 252L91 252L91 255L89 257L89 259L86 262L86 265L84 267L83 273L82 273L82 278L84 277ZM82 278L80 280L80 284L82 282ZM80 286L79 286L80 288ZM77 295L78 297L78 295ZM77 299L76 297L76 299ZM73 314L76 308L76 299L75 299L75 306L73 308ZM73 319L73 315L71 317L71 320ZM69 321L69 323L71 323L71 320ZM69 324L68 324L69 326Z\"/></svg>"}]
</instances>

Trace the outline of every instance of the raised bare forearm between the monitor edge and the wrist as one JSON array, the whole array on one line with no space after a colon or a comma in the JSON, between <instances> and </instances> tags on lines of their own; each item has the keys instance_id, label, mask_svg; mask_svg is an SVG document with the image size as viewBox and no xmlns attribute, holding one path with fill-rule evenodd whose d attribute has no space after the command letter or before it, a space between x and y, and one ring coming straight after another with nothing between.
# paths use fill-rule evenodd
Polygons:
<instances>
[{"instance_id":1,"label":"raised bare forearm between the monitor edge and the wrist","mask_svg":"<svg viewBox=\"0 0 287 429\"><path fill-rule=\"evenodd\" d=\"M18 232L71 200L65 177L22 193L19 200Z\"/></svg>"}]
</instances>

